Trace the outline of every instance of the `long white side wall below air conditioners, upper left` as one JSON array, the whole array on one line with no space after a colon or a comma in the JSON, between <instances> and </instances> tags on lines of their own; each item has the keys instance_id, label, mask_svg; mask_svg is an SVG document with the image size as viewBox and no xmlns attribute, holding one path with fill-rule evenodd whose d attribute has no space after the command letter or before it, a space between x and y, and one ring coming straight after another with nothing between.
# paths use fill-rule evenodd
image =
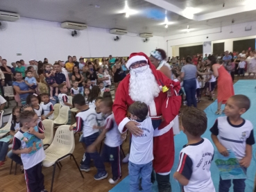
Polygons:
<instances>
[{"instance_id":1,"label":"long white side wall below air conditioners, upper left","mask_svg":"<svg viewBox=\"0 0 256 192\"><path fill-rule=\"evenodd\" d=\"M108 29L88 27L80 30L79 37L71 37L71 30L60 28L60 23L21 18L8 22L8 28L0 32L0 55L8 63L16 60L43 60L48 58L67 60L67 55L83 57L129 56L142 51L147 55L156 48L166 49L164 37L152 37L148 42L135 33L120 36L118 42ZM16 55L22 53L22 55Z\"/></svg>"}]
</instances>

